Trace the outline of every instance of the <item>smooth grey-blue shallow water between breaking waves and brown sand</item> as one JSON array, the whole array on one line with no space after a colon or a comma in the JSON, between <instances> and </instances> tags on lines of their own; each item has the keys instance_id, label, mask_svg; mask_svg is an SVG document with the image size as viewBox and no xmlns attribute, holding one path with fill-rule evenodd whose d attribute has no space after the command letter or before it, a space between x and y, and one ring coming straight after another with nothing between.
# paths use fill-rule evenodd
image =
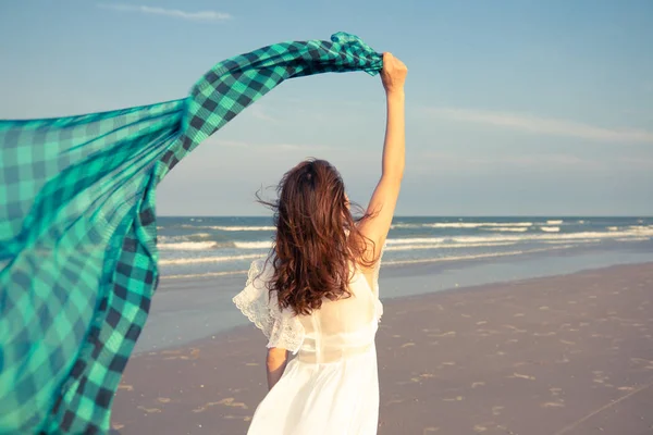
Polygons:
<instances>
[{"instance_id":1,"label":"smooth grey-blue shallow water between breaking waves and brown sand","mask_svg":"<svg viewBox=\"0 0 653 435\"><path fill-rule=\"evenodd\" d=\"M491 260L387 265L381 268L381 299L440 293L446 289L507 283L597 269L653 262L653 251L601 250L565 254L530 254ZM162 279L134 355L174 348L247 324L231 301L245 274L209 279Z\"/></svg>"}]
</instances>

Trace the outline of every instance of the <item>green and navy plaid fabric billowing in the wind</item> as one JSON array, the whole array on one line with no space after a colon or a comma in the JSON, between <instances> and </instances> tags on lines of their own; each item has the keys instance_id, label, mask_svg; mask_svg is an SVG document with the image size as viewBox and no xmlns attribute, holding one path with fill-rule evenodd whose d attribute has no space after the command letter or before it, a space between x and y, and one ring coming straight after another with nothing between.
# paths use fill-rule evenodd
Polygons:
<instances>
[{"instance_id":1,"label":"green and navy plaid fabric billowing in the wind","mask_svg":"<svg viewBox=\"0 0 653 435\"><path fill-rule=\"evenodd\" d=\"M283 80L381 66L338 33L220 62L182 100L0 121L0 433L109 432L159 278L157 184Z\"/></svg>"}]
</instances>

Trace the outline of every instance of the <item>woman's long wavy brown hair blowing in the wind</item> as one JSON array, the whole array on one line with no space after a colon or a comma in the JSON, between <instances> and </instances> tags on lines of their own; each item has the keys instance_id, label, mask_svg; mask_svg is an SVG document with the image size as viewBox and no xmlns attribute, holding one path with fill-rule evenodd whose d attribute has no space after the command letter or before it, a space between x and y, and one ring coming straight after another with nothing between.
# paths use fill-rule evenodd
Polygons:
<instances>
[{"instance_id":1,"label":"woman's long wavy brown hair blowing in the wind","mask_svg":"<svg viewBox=\"0 0 653 435\"><path fill-rule=\"evenodd\" d=\"M352 265L369 268L377 256L375 249L369 254L367 247L374 245L356 226L371 216L352 215L343 179L325 160L300 162L284 174L276 192L272 202L257 198L274 211L274 274L268 286L280 309L310 314L324 298L350 297Z\"/></svg>"}]
</instances>

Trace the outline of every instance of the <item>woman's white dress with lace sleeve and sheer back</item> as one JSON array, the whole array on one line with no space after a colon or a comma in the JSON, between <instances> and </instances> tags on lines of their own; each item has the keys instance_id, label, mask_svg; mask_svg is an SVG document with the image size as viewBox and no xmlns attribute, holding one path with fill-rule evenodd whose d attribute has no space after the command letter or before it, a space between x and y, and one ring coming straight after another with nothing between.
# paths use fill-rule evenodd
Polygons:
<instances>
[{"instance_id":1,"label":"woman's white dress with lace sleeve and sheer back","mask_svg":"<svg viewBox=\"0 0 653 435\"><path fill-rule=\"evenodd\" d=\"M266 287L271 261L251 263L247 285L234 303L266 334L268 347L285 348L294 358L256 409L249 435L377 434L374 336L383 312L379 263L373 288L356 270L350 298L325 300L312 314L298 316L280 312L276 293Z\"/></svg>"}]
</instances>

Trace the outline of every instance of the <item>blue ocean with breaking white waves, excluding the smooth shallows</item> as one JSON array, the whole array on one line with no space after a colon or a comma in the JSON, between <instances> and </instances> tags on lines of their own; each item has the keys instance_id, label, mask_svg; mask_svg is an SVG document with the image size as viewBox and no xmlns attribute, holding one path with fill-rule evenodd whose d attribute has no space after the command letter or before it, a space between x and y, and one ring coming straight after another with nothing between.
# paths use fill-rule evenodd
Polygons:
<instances>
[{"instance_id":1,"label":"blue ocean with breaking white waves, excluding the smooth shallows","mask_svg":"<svg viewBox=\"0 0 653 435\"><path fill-rule=\"evenodd\" d=\"M271 217L159 217L165 279L245 273L272 246ZM395 217L383 263L448 263L596 250L653 252L653 217Z\"/></svg>"}]
</instances>

